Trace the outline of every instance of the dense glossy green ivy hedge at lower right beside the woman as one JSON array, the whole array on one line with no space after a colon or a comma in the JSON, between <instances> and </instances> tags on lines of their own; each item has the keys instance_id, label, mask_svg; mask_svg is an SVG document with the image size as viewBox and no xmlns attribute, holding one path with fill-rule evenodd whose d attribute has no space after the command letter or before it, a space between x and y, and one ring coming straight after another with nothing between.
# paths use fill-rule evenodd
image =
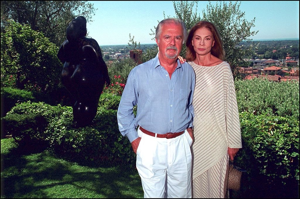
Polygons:
<instances>
[{"instance_id":1,"label":"dense glossy green ivy hedge at lower right beside the woman","mask_svg":"<svg viewBox=\"0 0 300 199\"><path fill-rule=\"evenodd\" d=\"M291 117L240 113L243 148L238 164L250 176L256 170L280 180L299 183L299 120Z\"/></svg>"}]
</instances>

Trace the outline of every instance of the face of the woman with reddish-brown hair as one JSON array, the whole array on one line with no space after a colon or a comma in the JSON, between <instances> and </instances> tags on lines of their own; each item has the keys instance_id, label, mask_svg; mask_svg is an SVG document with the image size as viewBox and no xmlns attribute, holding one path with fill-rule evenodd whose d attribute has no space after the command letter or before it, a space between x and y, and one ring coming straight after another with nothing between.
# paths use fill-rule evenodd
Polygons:
<instances>
[{"instance_id":1,"label":"face of the woman with reddish-brown hair","mask_svg":"<svg viewBox=\"0 0 300 199\"><path fill-rule=\"evenodd\" d=\"M211 48L214 46L214 36L209 29L199 28L194 32L192 45L196 54L206 55L210 53Z\"/></svg>"}]
</instances>

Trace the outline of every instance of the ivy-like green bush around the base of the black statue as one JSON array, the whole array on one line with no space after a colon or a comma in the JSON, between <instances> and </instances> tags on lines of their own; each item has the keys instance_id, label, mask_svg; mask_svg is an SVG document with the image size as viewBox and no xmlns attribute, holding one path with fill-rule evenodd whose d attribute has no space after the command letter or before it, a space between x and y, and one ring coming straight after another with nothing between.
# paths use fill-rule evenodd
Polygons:
<instances>
[{"instance_id":1,"label":"ivy-like green bush around the base of the black statue","mask_svg":"<svg viewBox=\"0 0 300 199\"><path fill-rule=\"evenodd\" d=\"M135 167L135 154L127 137L123 137L118 128L117 105L109 104L109 94L105 94L107 107L98 107L98 112L91 125L74 128L71 107L51 106L42 102L24 102L17 104L7 115L27 115L36 113L49 122L44 139L51 149L66 158L88 160L97 163L126 164ZM103 96L105 99L105 96ZM117 101L118 97L113 96ZM114 101L112 100L112 101ZM105 101L105 100L104 100ZM32 135L34 136L34 135Z\"/></svg>"}]
</instances>

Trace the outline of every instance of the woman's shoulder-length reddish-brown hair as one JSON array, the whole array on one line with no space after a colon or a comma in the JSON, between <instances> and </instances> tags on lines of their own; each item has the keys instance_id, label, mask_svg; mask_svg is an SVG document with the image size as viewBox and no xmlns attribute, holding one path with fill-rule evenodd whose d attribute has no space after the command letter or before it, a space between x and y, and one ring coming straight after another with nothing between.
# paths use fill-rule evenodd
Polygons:
<instances>
[{"instance_id":1,"label":"woman's shoulder-length reddish-brown hair","mask_svg":"<svg viewBox=\"0 0 300 199\"><path fill-rule=\"evenodd\" d=\"M196 52L192 45L192 40L193 40L195 31L198 30L199 28L206 28L212 33L213 39L214 39L214 46L211 48L211 54L213 56L223 60L225 58L223 41L221 40L220 34L219 34L216 26L214 26L213 23L208 22L208 21L199 21L198 23L196 23L195 26L193 26L190 29L190 32L187 36L187 41L186 41L187 51L185 53L185 59L188 61L194 61L196 59Z\"/></svg>"}]
</instances>

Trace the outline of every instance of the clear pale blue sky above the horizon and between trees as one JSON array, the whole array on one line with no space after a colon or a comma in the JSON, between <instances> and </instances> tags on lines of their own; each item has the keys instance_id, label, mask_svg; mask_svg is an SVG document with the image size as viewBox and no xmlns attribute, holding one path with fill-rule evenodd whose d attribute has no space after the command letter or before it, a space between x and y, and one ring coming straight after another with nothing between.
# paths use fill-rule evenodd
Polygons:
<instances>
[{"instance_id":1,"label":"clear pale blue sky above the horizon and between trees","mask_svg":"<svg viewBox=\"0 0 300 199\"><path fill-rule=\"evenodd\" d=\"M151 29L166 16L176 17L172 1L89 1L98 8L93 22L87 24L88 36L100 46L128 44L129 34L141 44L154 44ZM215 5L217 1L211 1ZM227 1L227 5L228 5ZM219 3L219 2L218 2ZM198 11L206 11L208 1L198 2ZM299 1L241 1L245 19L253 20L253 40L299 38Z\"/></svg>"}]
</instances>

